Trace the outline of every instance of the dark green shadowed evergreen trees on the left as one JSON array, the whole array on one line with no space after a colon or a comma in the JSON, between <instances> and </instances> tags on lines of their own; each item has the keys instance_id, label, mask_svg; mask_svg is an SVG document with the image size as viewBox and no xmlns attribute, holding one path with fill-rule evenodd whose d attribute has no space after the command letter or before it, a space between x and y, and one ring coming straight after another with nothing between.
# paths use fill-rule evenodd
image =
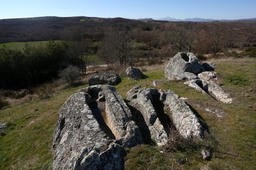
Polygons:
<instances>
[{"instance_id":1,"label":"dark green shadowed evergreen trees on the left","mask_svg":"<svg viewBox=\"0 0 256 170\"><path fill-rule=\"evenodd\" d=\"M85 73L93 50L83 41L49 41L40 46L26 44L22 50L1 48L0 88L31 87L53 80L69 65Z\"/></svg>"}]
</instances>

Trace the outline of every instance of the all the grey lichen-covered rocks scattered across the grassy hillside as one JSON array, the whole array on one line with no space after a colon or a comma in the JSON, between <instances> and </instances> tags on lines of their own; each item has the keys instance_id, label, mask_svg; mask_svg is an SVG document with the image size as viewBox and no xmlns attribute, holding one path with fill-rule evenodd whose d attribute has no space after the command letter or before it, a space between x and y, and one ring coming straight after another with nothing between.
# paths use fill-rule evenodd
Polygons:
<instances>
[{"instance_id":1,"label":"all the grey lichen-covered rocks scattered across the grassy hillside","mask_svg":"<svg viewBox=\"0 0 256 170\"><path fill-rule=\"evenodd\" d=\"M193 53L177 53L166 66L165 76L187 80L190 87L231 103L229 94L215 82L213 70ZM126 73L132 80L145 78L136 67L129 67ZM125 148L150 142L165 145L173 129L184 138L203 138L197 116L173 91L136 85L124 101L111 86L119 82L114 72L93 74L90 86L64 103L54 132L53 169L124 169ZM210 159L206 150L202 156Z\"/></svg>"}]
</instances>

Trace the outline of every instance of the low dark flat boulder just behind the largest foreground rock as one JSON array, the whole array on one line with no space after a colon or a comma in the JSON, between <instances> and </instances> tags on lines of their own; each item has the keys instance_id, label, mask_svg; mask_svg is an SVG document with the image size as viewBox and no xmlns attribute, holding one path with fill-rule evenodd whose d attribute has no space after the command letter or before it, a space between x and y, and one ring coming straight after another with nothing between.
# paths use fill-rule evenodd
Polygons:
<instances>
[{"instance_id":1,"label":"low dark flat boulder just behind the largest foreground rock","mask_svg":"<svg viewBox=\"0 0 256 170\"><path fill-rule=\"evenodd\" d=\"M116 73L109 72L98 72L89 78L89 85L100 85L100 84L109 84L117 85L121 82L121 78Z\"/></svg>"}]
</instances>

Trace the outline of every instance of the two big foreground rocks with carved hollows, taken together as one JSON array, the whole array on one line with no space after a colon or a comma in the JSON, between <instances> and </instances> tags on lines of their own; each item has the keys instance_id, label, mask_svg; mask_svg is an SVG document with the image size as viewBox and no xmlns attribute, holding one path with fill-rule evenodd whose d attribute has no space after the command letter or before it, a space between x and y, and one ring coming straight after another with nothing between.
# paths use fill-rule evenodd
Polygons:
<instances>
[{"instance_id":1,"label":"two big foreground rocks with carved hollows, taken together","mask_svg":"<svg viewBox=\"0 0 256 170\"><path fill-rule=\"evenodd\" d=\"M54 132L53 169L123 169L124 148L145 142L143 128L157 145L167 143L172 122L183 137L202 138L202 125L173 91L136 86L127 100L128 105L111 85L93 85L70 96ZM133 121L136 116L143 117L145 127Z\"/></svg>"}]
</instances>

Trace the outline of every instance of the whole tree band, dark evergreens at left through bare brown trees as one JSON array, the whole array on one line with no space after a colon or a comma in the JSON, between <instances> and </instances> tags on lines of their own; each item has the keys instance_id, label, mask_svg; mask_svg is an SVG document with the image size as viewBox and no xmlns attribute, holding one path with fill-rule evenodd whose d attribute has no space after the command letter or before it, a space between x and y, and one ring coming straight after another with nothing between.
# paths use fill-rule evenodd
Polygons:
<instances>
[{"instance_id":1,"label":"whole tree band, dark evergreens at left through bare brown trees","mask_svg":"<svg viewBox=\"0 0 256 170\"><path fill-rule=\"evenodd\" d=\"M106 62L126 67L145 58L159 61L179 51L193 53L228 52L249 41L255 42L255 30L243 30L224 23L166 22L150 27L109 27L87 36L83 30L69 32L66 41L49 41L45 45L21 50L0 49L0 88L29 87L58 77L69 65L87 73L93 54ZM67 36L68 35L68 36ZM85 36L86 35L86 36Z\"/></svg>"}]
</instances>

